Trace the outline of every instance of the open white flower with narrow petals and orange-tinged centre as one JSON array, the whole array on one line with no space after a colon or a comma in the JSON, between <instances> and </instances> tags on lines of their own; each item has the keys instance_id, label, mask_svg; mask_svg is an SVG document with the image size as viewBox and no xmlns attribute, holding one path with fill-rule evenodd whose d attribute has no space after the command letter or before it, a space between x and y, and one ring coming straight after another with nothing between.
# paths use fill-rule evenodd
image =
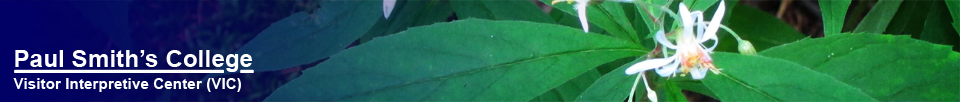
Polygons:
<instances>
[{"instance_id":1,"label":"open white flower with narrow petals and orange-tinged centre","mask_svg":"<svg viewBox=\"0 0 960 102\"><path fill-rule=\"evenodd\" d=\"M649 59L636 63L627 68L626 74L633 75L655 69L660 76L669 77L675 75L675 73L685 75L686 73L692 72L691 77L699 80L706 76L707 70L720 73L719 69L713 66L713 59L710 58L709 53L713 52L713 49L717 46L716 41L719 41L716 32L721 26L721 18L723 18L723 12L725 11L724 6L723 1L720 1L716 14L714 14L709 25L707 25L705 24L707 22L703 21L702 11L690 12L686 5L680 3L678 15L680 16L683 28L682 31L678 31L680 35L677 36L677 44L674 45L671 43L666 38L663 30L657 31L655 38L658 43L663 45L664 49L673 49L675 53L668 57L668 51L662 50L664 52L664 58ZM696 25L696 27L694 25ZM696 30L696 32L694 30ZM696 35L694 35L694 33L696 33ZM709 40L714 40L713 46L705 47L702 43Z\"/></svg>"}]
</instances>

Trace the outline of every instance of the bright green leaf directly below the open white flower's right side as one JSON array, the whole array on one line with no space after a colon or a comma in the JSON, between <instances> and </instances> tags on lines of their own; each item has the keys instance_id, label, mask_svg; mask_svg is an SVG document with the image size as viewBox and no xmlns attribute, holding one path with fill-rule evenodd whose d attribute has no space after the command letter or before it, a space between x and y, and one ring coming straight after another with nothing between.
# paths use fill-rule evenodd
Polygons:
<instances>
[{"instance_id":1,"label":"bright green leaf directly below the open white flower's right side","mask_svg":"<svg viewBox=\"0 0 960 102\"><path fill-rule=\"evenodd\" d=\"M856 87L790 61L724 52L713 58L722 73L702 81L721 101L876 101Z\"/></svg>"}]
</instances>

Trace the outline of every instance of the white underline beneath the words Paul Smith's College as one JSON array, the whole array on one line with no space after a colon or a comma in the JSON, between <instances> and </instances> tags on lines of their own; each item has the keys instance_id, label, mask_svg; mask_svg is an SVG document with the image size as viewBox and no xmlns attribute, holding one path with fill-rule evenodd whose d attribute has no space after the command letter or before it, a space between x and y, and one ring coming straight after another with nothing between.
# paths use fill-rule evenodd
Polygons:
<instances>
[{"instance_id":1,"label":"white underline beneath the words Paul Smith's College","mask_svg":"<svg viewBox=\"0 0 960 102\"><path fill-rule=\"evenodd\" d=\"M244 72L240 70L240 72ZM106 69L84 69L84 70L13 70L13 73L224 73L222 69L174 69L174 70L106 70ZM253 70L250 70L253 73Z\"/></svg>"}]
</instances>

